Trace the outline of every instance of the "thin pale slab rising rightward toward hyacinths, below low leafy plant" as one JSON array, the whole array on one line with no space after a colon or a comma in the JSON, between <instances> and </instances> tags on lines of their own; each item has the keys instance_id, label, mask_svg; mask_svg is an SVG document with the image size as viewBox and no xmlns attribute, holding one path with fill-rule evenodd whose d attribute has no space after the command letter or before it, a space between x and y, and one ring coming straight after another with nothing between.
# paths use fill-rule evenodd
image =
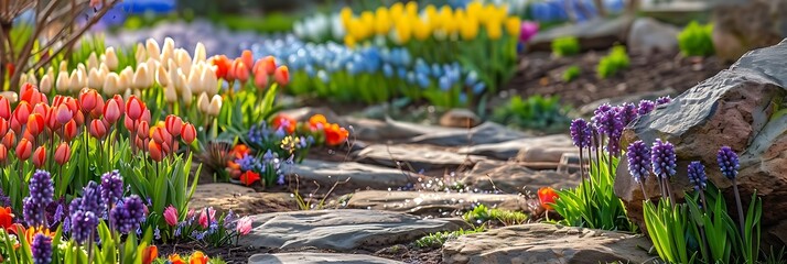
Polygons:
<instances>
[{"instance_id":1,"label":"thin pale slab rising rightward toward hyacinths, below low leafy plant","mask_svg":"<svg viewBox=\"0 0 787 264\"><path fill-rule=\"evenodd\" d=\"M472 154L507 161L528 146L571 146L571 138L565 134L526 138L500 143L481 144L460 147L460 154Z\"/></svg>"}]
</instances>

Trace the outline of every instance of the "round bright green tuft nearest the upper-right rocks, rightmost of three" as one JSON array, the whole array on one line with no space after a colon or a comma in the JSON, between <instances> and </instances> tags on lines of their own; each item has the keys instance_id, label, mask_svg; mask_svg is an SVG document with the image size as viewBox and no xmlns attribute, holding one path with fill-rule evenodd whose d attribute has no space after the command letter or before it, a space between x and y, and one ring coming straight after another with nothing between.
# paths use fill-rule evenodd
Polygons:
<instances>
[{"instance_id":1,"label":"round bright green tuft nearest the upper-right rocks, rightmost of three","mask_svg":"<svg viewBox=\"0 0 787 264\"><path fill-rule=\"evenodd\" d=\"M686 56L713 55L713 24L700 25L692 21L678 34L678 47Z\"/></svg>"}]
</instances>

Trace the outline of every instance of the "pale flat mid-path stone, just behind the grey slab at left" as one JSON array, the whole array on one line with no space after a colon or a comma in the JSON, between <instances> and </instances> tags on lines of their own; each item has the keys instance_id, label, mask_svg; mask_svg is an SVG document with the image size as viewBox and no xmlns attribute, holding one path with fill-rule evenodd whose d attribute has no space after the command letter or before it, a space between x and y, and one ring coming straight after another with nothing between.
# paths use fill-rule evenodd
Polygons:
<instances>
[{"instance_id":1,"label":"pale flat mid-path stone, just behind the grey slab at left","mask_svg":"<svg viewBox=\"0 0 787 264\"><path fill-rule=\"evenodd\" d=\"M472 165L478 161L486 160L483 156L462 155L456 152L440 150L429 145L382 145L373 144L353 154L356 162L367 164L379 164L382 166L398 167L397 163L405 168L412 167L419 169L455 169L461 165Z\"/></svg>"}]
</instances>

